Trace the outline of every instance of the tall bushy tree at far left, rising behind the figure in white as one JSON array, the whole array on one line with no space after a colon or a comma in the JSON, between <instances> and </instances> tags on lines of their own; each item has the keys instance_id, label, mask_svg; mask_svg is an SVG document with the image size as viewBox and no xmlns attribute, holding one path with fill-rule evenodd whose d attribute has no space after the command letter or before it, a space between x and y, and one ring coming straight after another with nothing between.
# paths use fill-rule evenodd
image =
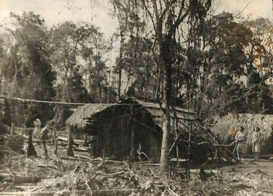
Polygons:
<instances>
[{"instance_id":1,"label":"tall bushy tree at far left, rising behind the figure in white","mask_svg":"<svg viewBox=\"0 0 273 196\"><path fill-rule=\"evenodd\" d=\"M10 97L52 100L55 94L52 86L55 74L48 61L50 52L47 43L50 35L44 20L33 12L24 12L22 16L11 13L10 17L14 20L15 28L7 28L4 34L10 38L6 38L2 92ZM12 103L11 116L18 126L26 120L31 125L37 117L48 119L51 116L50 107L45 107L43 103Z\"/></svg>"}]
</instances>

